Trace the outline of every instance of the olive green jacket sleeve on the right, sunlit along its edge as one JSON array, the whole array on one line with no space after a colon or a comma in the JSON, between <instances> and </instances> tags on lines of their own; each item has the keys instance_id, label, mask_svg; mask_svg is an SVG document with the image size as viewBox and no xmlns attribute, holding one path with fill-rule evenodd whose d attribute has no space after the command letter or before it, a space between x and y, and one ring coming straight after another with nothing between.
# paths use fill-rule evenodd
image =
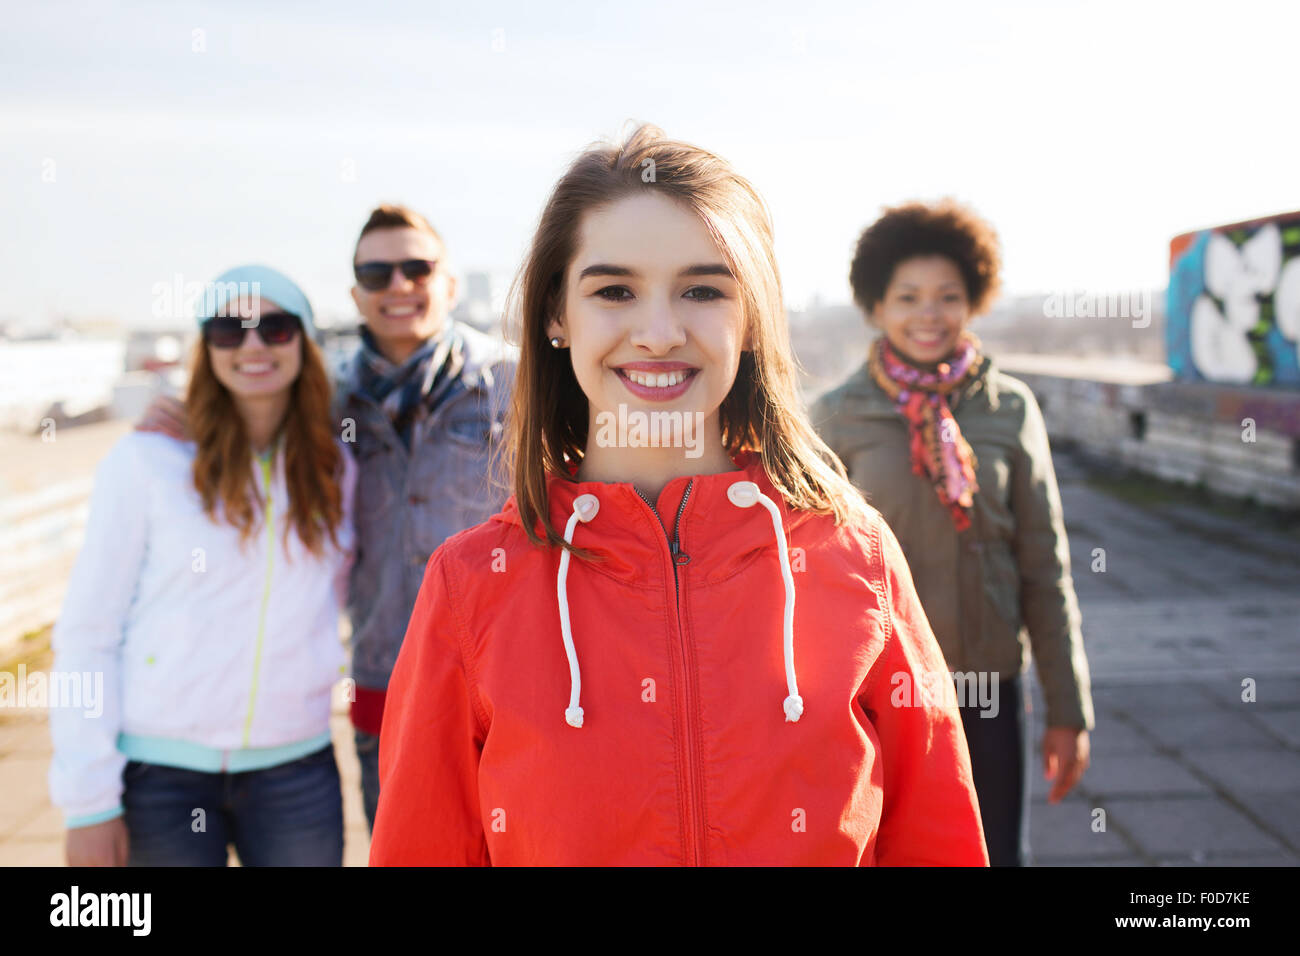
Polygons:
<instances>
[{"instance_id":1,"label":"olive green jacket sleeve on the right, sunlit along its edge","mask_svg":"<svg viewBox=\"0 0 1300 956\"><path fill-rule=\"evenodd\" d=\"M1070 545L1046 425L1034 394L1024 394L1024 421L1011 466L1015 561L1020 617L1043 682L1049 727L1092 730L1088 658L1079 601L1070 574Z\"/></svg>"}]
</instances>

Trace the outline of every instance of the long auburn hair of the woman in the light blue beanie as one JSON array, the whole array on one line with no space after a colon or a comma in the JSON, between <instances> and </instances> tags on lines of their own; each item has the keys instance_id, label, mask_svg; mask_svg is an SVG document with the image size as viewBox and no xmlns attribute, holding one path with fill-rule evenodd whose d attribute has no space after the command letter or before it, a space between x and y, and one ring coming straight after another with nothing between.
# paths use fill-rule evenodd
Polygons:
<instances>
[{"instance_id":1,"label":"long auburn hair of the woman in the light blue beanie","mask_svg":"<svg viewBox=\"0 0 1300 956\"><path fill-rule=\"evenodd\" d=\"M335 531L343 520L339 477L343 458L330 427L330 384L320 350L307 332L299 332L302 371L290 386L289 410L280 428L285 446L285 484L289 488L290 528L308 551L321 557L325 538L338 546ZM208 346L199 337L190 360L186 420L198 453L194 486L203 510L213 522L217 509L247 542L261 525L265 501L252 473L252 446L230 390L212 371Z\"/></svg>"}]
</instances>

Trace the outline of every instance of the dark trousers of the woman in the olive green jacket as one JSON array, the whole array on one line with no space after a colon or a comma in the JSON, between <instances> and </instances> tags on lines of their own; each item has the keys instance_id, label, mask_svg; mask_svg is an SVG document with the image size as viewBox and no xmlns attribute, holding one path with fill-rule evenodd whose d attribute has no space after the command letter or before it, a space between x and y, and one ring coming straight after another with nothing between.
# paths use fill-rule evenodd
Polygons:
<instances>
[{"instance_id":1,"label":"dark trousers of the woman in the olive green jacket","mask_svg":"<svg viewBox=\"0 0 1300 956\"><path fill-rule=\"evenodd\" d=\"M1030 730L1020 675L998 682L997 701L993 717L982 717L984 711L971 701L958 702L965 704L959 710L989 864L1024 866L1030 858Z\"/></svg>"}]
</instances>

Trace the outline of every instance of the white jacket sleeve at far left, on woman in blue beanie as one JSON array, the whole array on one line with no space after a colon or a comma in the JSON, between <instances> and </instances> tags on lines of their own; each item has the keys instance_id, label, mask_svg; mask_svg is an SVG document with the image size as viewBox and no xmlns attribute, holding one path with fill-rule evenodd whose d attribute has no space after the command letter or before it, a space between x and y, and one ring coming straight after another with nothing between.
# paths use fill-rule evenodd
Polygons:
<instances>
[{"instance_id":1,"label":"white jacket sleeve at far left, on woman in blue beanie","mask_svg":"<svg viewBox=\"0 0 1300 956\"><path fill-rule=\"evenodd\" d=\"M78 674L83 688L87 680L99 688L99 700L83 692L81 706L49 701L49 799L69 827L122 813L121 653L144 564L150 497L134 442L134 436L118 441L96 468L86 537L51 636L53 674Z\"/></svg>"}]
</instances>

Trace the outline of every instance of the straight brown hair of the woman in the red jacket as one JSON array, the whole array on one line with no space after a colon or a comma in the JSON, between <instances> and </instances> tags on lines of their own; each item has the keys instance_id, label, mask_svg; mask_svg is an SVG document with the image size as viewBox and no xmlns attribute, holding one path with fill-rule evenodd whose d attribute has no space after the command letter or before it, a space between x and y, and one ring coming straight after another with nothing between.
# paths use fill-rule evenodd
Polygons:
<instances>
[{"instance_id":1,"label":"straight brown hair of the woman in the red jacket","mask_svg":"<svg viewBox=\"0 0 1300 956\"><path fill-rule=\"evenodd\" d=\"M757 451L790 506L833 514L841 524L864 502L844 464L818 437L800 395L781 280L767 206L722 157L668 139L651 125L620 144L598 143L560 177L542 209L524 265L511 289L511 323L520 358L511 398L504 463L529 540L589 557L564 542L550 516L549 475L573 480L588 441L588 401L566 350L552 349L547 323L564 311L564 280L577 254L582 215L654 190L696 212L736 276L751 350L719 410L723 445L734 457Z\"/></svg>"}]
</instances>

